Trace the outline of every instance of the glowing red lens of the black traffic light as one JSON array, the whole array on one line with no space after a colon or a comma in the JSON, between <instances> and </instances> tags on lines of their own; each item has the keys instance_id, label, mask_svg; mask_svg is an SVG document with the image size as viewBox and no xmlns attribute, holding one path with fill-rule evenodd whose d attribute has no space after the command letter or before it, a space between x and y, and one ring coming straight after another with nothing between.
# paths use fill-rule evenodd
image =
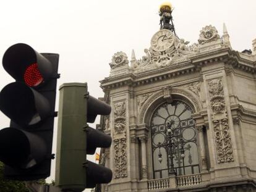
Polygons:
<instances>
[{"instance_id":1,"label":"glowing red lens of the black traffic light","mask_svg":"<svg viewBox=\"0 0 256 192\"><path fill-rule=\"evenodd\" d=\"M37 64L29 65L24 73L24 80L28 86L38 86L43 81L43 77L38 70Z\"/></svg>"}]
</instances>

